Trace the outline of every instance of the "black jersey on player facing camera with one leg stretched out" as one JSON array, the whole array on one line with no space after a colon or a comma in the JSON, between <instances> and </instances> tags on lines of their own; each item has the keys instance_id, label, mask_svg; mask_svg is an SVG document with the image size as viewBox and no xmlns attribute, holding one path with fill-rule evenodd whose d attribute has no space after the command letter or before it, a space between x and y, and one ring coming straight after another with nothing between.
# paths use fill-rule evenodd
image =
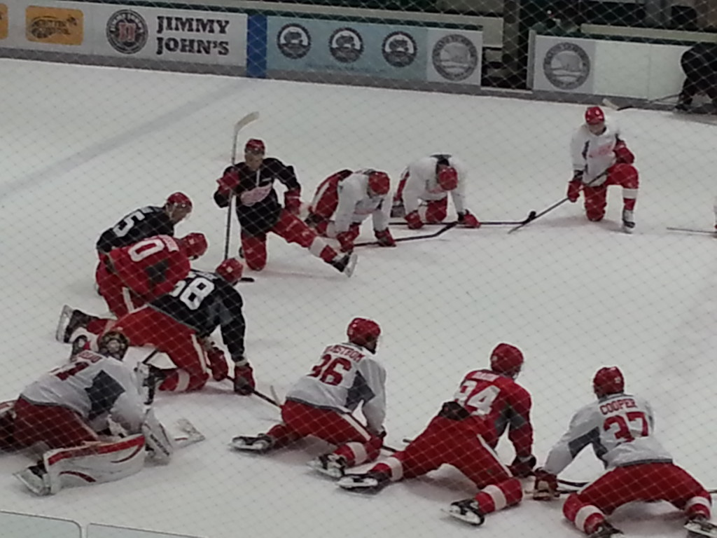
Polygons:
<instances>
[{"instance_id":1,"label":"black jersey on player facing camera with one leg stretched out","mask_svg":"<svg viewBox=\"0 0 717 538\"><path fill-rule=\"evenodd\" d=\"M224 174L232 170L239 174L239 186L234 189L234 194L237 195L237 218L242 232L247 235L265 234L279 221L282 210L273 187L274 180L281 181L288 190L300 189L293 166L267 157L257 171L252 171L241 162L229 166ZM214 202L219 207L227 207L229 197L215 192Z\"/></svg>"}]
</instances>

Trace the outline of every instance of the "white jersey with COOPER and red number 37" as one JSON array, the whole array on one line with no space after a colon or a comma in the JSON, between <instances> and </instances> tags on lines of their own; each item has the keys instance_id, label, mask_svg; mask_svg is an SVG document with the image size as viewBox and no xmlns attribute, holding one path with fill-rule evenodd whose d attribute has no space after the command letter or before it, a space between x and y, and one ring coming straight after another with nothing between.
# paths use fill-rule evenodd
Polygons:
<instances>
[{"instance_id":1,"label":"white jersey with COOPER and red number 37","mask_svg":"<svg viewBox=\"0 0 717 538\"><path fill-rule=\"evenodd\" d=\"M559 474L587 445L607 468L636 463L671 462L672 456L653 435L655 419L647 400L616 394L576 412L568 431L548 455L545 468Z\"/></svg>"}]
</instances>

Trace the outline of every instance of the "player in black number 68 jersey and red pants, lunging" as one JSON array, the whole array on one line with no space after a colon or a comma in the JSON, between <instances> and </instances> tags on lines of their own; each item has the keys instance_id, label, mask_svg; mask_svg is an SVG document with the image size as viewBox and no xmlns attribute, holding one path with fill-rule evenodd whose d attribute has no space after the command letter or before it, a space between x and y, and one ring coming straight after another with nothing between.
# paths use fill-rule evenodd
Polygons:
<instances>
[{"instance_id":1,"label":"player in black number 68 jersey and red pants, lunging","mask_svg":"<svg viewBox=\"0 0 717 538\"><path fill-rule=\"evenodd\" d=\"M242 270L242 263L235 258L224 260L215 273L190 270L171 293L116 322L73 311L64 341L72 341L82 334L78 329L95 324L125 334L133 346L151 344L166 353L175 368L151 367L146 379L150 392L153 393L156 384L159 390L184 392L204 387L209 370L216 381L229 377L224 352L210 338L219 326L234 362L234 392L250 395L255 382L252 367L244 357L243 301L234 289L242 278Z\"/></svg>"}]
</instances>

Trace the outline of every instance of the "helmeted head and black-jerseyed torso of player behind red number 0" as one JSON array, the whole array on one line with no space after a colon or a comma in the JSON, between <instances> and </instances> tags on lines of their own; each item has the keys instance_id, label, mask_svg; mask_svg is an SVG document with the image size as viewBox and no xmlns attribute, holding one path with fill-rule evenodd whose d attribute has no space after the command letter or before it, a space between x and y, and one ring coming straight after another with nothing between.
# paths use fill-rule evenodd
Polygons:
<instances>
[{"instance_id":1,"label":"helmeted head and black-jerseyed torso of player behind red number 0","mask_svg":"<svg viewBox=\"0 0 717 538\"><path fill-rule=\"evenodd\" d=\"M113 248L128 247L148 237L174 237L174 226L191 213L191 200L183 192L170 194L162 207L140 207L105 230L97 242L97 252L108 254Z\"/></svg>"}]
</instances>

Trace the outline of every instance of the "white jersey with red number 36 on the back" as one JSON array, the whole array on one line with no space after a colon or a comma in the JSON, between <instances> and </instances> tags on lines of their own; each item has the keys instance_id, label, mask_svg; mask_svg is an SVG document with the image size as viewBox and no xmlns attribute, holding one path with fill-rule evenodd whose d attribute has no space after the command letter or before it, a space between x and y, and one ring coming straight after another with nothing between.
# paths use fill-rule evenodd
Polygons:
<instances>
[{"instance_id":1,"label":"white jersey with red number 36 on the back","mask_svg":"<svg viewBox=\"0 0 717 538\"><path fill-rule=\"evenodd\" d=\"M286 398L339 412L351 412L363 402L369 430L380 433L386 417L386 370L368 349L333 344L323 350L320 362L291 387Z\"/></svg>"}]
</instances>

